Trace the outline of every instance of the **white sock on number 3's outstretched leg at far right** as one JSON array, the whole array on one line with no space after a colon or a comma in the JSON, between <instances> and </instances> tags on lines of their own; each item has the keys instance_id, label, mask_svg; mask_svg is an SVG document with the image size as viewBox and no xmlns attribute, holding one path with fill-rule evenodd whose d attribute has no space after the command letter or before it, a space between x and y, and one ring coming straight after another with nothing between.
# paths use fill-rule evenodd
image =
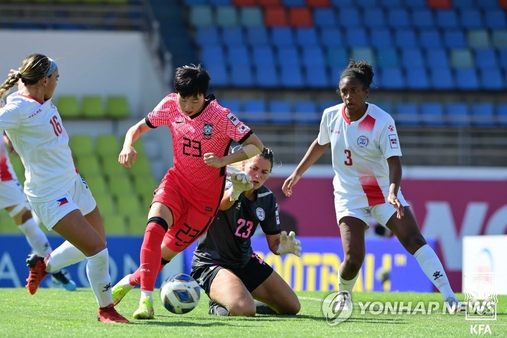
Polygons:
<instances>
[{"instance_id":1,"label":"white sock on number 3's outstretched leg at far right","mask_svg":"<svg viewBox=\"0 0 507 338\"><path fill-rule=\"evenodd\" d=\"M444 299L455 297L444 271L444 266L442 266L439 257L429 245L426 244L420 247L415 252L414 257L419 262L422 271L428 276L434 286L439 289L442 296L444 296Z\"/></svg>"}]
</instances>

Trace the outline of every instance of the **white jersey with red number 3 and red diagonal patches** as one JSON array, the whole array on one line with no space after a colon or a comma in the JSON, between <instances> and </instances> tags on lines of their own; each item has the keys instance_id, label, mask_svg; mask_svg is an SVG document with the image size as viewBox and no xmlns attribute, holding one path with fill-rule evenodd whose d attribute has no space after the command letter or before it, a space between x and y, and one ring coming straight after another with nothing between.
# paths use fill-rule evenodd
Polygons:
<instances>
[{"instance_id":1,"label":"white jersey with red number 3 and red diagonal patches","mask_svg":"<svg viewBox=\"0 0 507 338\"><path fill-rule=\"evenodd\" d=\"M387 202L387 158L402 156L392 117L368 104L365 115L354 122L345 105L324 110L317 137L320 145L331 143L335 177L335 206L359 209Z\"/></svg>"}]
</instances>

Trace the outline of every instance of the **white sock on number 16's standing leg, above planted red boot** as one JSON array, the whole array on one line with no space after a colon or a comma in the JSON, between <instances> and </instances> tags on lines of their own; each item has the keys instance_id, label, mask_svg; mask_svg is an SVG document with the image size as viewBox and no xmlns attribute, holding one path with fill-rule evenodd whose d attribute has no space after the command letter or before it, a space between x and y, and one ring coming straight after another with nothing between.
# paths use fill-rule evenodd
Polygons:
<instances>
[{"instance_id":1,"label":"white sock on number 16's standing leg, above planted red boot","mask_svg":"<svg viewBox=\"0 0 507 338\"><path fill-rule=\"evenodd\" d=\"M109 253L107 248L88 258L86 275L100 308L113 303L111 276L109 275Z\"/></svg>"}]
</instances>

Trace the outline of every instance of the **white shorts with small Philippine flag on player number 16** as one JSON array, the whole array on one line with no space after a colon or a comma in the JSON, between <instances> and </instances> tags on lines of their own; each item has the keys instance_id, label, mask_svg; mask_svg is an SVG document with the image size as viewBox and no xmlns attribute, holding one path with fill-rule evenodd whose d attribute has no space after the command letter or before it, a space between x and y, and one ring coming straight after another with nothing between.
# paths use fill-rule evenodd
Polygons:
<instances>
[{"instance_id":1,"label":"white shorts with small Philippine flag on player number 16","mask_svg":"<svg viewBox=\"0 0 507 338\"><path fill-rule=\"evenodd\" d=\"M62 193L59 198L49 202L30 201L30 206L33 212L39 216L41 222L48 230L51 230L59 220L71 211L79 209L83 215L87 215L95 209L97 203L85 180L78 176L74 186L69 191Z\"/></svg>"}]
</instances>

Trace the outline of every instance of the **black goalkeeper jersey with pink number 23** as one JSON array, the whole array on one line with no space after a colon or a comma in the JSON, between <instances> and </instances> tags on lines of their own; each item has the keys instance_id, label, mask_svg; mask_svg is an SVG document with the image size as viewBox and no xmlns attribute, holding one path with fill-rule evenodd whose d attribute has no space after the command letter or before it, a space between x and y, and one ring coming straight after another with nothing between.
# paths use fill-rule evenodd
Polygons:
<instances>
[{"instance_id":1,"label":"black goalkeeper jersey with pink number 23","mask_svg":"<svg viewBox=\"0 0 507 338\"><path fill-rule=\"evenodd\" d=\"M226 189L230 187L227 182ZM280 233L278 205L271 190L261 186L251 201L241 193L227 210L220 210L208 232L199 238L192 268L220 265L241 268L252 255L251 236L260 224L266 234Z\"/></svg>"}]
</instances>

